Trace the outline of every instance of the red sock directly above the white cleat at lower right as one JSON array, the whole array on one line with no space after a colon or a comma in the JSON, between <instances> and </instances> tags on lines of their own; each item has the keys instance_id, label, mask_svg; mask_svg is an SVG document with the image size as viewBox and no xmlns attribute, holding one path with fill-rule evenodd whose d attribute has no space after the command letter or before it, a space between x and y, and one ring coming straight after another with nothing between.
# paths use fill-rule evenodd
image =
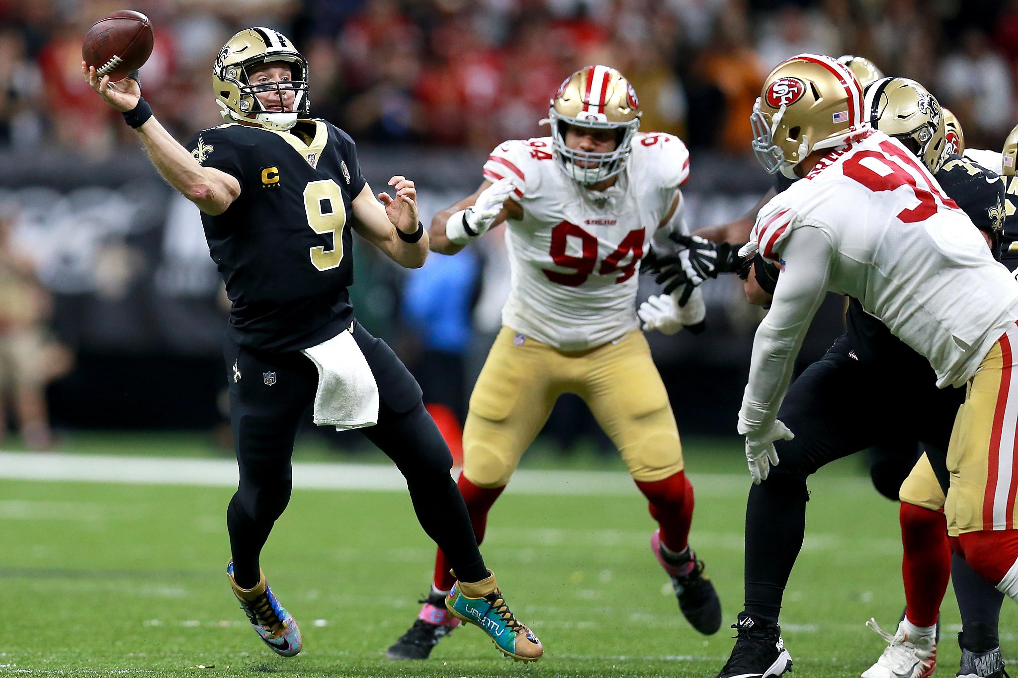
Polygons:
<instances>
[{"instance_id":1,"label":"red sock directly above the white cleat at lower right","mask_svg":"<svg viewBox=\"0 0 1018 678\"><path fill-rule=\"evenodd\" d=\"M951 577L951 544L944 513L901 502L901 575L905 616L916 626L932 626Z\"/></svg>"}]
</instances>

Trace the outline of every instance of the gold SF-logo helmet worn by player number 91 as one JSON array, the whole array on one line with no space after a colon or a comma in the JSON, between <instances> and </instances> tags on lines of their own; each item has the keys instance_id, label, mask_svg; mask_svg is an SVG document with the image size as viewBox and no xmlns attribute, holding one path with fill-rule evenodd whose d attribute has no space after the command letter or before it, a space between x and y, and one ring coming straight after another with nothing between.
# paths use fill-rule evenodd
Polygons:
<instances>
[{"instance_id":1,"label":"gold SF-logo helmet worn by player number 91","mask_svg":"<svg viewBox=\"0 0 1018 678\"><path fill-rule=\"evenodd\" d=\"M813 150L841 145L869 129L859 81L848 66L819 54L778 64L764 81L750 122L756 160L771 174L780 171L790 179Z\"/></svg>"}]
</instances>

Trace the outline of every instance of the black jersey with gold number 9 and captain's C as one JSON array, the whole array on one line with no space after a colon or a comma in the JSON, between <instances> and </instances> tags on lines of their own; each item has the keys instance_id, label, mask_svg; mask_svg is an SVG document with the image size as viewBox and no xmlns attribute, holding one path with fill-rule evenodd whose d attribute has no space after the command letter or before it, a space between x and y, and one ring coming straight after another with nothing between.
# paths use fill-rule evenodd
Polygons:
<instances>
[{"instance_id":1,"label":"black jersey with gold number 9 and captain's C","mask_svg":"<svg viewBox=\"0 0 1018 678\"><path fill-rule=\"evenodd\" d=\"M321 344L353 318L348 217L365 183L356 149L324 120L294 129L302 136L223 125L186 145L240 182L237 199L202 225L231 302L227 337L267 351Z\"/></svg>"}]
</instances>

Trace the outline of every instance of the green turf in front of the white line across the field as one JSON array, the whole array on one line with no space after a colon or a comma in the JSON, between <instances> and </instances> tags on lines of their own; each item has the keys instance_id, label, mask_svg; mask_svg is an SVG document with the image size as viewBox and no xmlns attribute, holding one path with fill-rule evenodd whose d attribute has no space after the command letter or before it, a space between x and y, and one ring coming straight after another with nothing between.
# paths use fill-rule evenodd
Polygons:
<instances>
[{"instance_id":1,"label":"green turf in front of the white line across the field","mask_svg":"<svg viewBox=\"0 0 1018 678\"><path fill-rule=\"evenodd\" d=\"M726 613L709 639L688 627L666 590L635 488L631 496L563 497L514 495L510 486L493 511L484 552L544 641L540 663L503 659L468 627L430 661L397 664L383 653L413 620L433 557L403 493L294 493L263 558L304 636L303 653L283 659L258 640L226 582L229 489L0 481L0 672L713 677L741 604L749 479L737 448L702 449L688 449L697 488L691 543ZM697 466L711 474L697 480ZM806 543L783 617L799 678L858 676L883 649L863 623L875 616L893 630L903 605L897 506L855 471L843 463L810 486ZM950 593L943 616L938 675L953 676ZM1016 621L1008 603L1007 658L1016 656Z\"/></svg>"}]
</instances>

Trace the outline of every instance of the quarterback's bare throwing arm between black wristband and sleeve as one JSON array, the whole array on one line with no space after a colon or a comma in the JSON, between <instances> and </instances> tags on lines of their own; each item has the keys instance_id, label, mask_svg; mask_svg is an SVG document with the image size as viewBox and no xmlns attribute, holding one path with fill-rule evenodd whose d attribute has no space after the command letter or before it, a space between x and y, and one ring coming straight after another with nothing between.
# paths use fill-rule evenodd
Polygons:
<instances>
[{"instance_id":1,"label":"quarterback's bare throwing arm between black wristband and sleeve","mask_svg":"<svg viewBox=\"0 0 1018 678\"><path fill-rule=\"evenodd\" d=\"M149 118L136 131L152 164L163 179L195 203L202 211L222 213L236 198L237 192L217 181L207 168L199 165L194 157L177 143L155 116Z\"/></svg>"}]
</instances>

